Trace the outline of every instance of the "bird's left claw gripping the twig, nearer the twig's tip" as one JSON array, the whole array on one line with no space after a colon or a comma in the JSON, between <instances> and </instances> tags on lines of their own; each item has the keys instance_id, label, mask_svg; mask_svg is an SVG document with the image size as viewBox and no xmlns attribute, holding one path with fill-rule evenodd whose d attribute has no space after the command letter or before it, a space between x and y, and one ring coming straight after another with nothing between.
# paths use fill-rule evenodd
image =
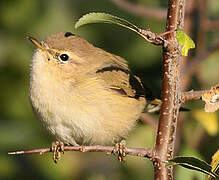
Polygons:
<instances>
[{"instance_id":1,"label":"bird's left claw gripping the twig, nearer the twig's tip","mask_svg":"<svg viewBox=\"0 0 219 180\"><path fill-rule=\"evenodd\" d=\"M61 154L64 154L64 143L60 141L52 142L51 152L53 152L53 161L57 161L61 158Z\"/></svg>"}]
</instances>

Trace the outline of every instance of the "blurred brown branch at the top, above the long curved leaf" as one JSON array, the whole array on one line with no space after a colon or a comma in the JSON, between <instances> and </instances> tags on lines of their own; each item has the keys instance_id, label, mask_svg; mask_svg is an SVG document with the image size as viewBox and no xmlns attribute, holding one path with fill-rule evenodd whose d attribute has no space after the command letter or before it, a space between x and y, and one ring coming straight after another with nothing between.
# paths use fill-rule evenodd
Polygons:
<instances>
[{"instance_id":1,"label":"blurred brown branch at the top, above the long curved leaf","mask_svg":"<svg viewBox=\"0 0 219 180\"><path fill-rule=\"evenodd\" d=\"M151 8L151 7L143 7L140 5L136 5L134 3L130 3L125 0L110 0L117 6L125 9L126 11L148 18L154 18L158 20L164 20L166 18L167 11L163 8Z\"/></svg>"}]
</instances>

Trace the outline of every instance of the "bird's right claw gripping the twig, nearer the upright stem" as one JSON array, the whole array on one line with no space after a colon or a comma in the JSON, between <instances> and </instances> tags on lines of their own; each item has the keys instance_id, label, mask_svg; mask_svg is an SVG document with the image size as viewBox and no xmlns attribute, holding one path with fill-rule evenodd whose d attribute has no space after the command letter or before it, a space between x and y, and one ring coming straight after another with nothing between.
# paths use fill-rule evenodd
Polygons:
<instances>
[{"instance_id":1,"label":"bird's right claw gripping the twig, nearer the upright stem","mask_svg":"<svg viewBox=\"0 0 219 180\"><path fill-rule=\"evenodd\" d=\"M124 157L126 156L126 142L122 140L120 143L116 143L112 150L112 153L118 155L119 162L124 162Z\"/></svg>"}]
</instances>

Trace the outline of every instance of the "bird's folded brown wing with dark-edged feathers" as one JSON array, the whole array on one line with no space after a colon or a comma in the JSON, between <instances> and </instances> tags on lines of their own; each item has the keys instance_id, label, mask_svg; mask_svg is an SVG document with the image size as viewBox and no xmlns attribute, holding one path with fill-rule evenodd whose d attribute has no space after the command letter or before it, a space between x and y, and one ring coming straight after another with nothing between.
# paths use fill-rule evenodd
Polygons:
<instances>
[{"instance_id":1,"label":"bird's folded brown wing with dark-edged feathers","mask_svg":"<svg viewBox=\"0 0 219 180\"><path fill-rule=\"evenodd\" d=\"M131 98L145 97L145 89L141 80L133 75L124 60L119 58L115 56L110 63L98 69L96 74L111 90Z\"/></svg>"}]
</instances>

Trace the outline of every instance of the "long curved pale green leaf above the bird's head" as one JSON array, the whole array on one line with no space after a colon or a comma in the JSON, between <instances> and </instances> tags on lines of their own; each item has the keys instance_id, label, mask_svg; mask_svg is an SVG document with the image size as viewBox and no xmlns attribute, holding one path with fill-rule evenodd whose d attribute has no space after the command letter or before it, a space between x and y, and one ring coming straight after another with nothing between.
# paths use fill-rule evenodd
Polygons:
<instances>
[{"instance_id":1,"label":"long curved pale green leaf above the bird's head","mask_svg":"<svg viewBox=\"0 0 219 180\"><path fill-rule=\"evenodd\" d=\"M82 16L76 23L75 28L78 28L80 26L83 26L85 24L91 24L91 23L109 23L109 24L116 24L119 26L123 26L127 29L130 29L138 34L139 28L130 23L129 21L119 18L117 16L113 16L111 14L106 13L89 13L84 16Z\"/></svg>"}]
</instances>

